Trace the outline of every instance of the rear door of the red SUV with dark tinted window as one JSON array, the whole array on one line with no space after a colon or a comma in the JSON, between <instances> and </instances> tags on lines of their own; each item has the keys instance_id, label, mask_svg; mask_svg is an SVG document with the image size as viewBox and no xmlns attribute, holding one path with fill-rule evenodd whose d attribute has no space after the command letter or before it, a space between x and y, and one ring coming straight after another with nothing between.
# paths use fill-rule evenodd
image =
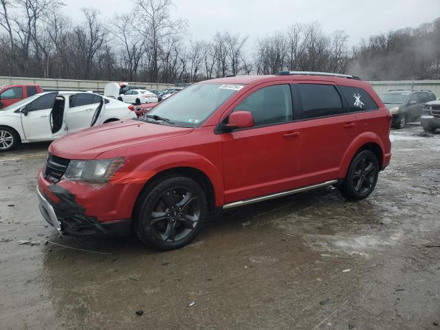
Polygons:
<instances>
[{"instance_id":1,"label":"rear door of the red SUV with dark tinted window","mask_svg":"<svg viewBox=\"0 0 440 330\"><path fill-rule=\"evenodd\" d=\"M342 157L358 135L355 115L333 83L301 82L292 85L292 91L302 104L294 111L294 119L303 123L297 184L339 179Z\"/></svg>"}]
</instances>

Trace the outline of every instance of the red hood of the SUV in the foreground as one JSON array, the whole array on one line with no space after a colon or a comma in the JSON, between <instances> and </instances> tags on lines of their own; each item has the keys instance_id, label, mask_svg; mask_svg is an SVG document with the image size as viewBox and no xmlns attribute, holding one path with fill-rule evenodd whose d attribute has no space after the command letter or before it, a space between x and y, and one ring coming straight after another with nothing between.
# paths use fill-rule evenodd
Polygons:
<instances>
[{"instance_id":1,"label":"red hood of the SUV in the foreground","mask_svg":"<svg viewBox=\"0 0 440 330\"><path fill-rule=\"evenodd\" d=\"M95 159L105 151L176 137L188 134L192 130L140 120L110 122L65 135L53 142L49 151L67 159Z\"/></svg>"}]
</instances>

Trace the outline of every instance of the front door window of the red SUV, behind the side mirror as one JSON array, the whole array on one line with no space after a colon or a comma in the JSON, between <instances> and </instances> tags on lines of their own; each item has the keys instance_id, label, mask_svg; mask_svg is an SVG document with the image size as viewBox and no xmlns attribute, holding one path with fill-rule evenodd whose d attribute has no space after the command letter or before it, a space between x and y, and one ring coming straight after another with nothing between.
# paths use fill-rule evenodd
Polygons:
<instances>
[{"instance_id":1,"label":"front door window of the red SUV, behind the side mirror","mask_svg":"<svg viewBox=\"0 0 440 330\"><path fill-rule=\"evenodd\" d=\"M254 126L278 124L292 120L292 94L289 85L274 85L254 91L234 109L250 111Z\"/></svg>"}]
</instances>

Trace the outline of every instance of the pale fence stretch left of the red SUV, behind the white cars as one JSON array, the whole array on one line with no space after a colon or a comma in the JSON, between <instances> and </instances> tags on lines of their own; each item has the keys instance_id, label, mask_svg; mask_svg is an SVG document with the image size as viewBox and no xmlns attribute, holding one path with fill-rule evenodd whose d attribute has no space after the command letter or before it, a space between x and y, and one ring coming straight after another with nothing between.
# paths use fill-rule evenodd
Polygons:
<instances>
[{"instance_id":1,"label":"pale fence stretch left of the red SUV, behind the white cars","mask_svg":"<svg viewBox=\"0 0 440 330\"><path fill-rule=\"evenodd\" d=\"M111 82L102 80L0 77L0 85L36 84L41 85L45 91L95 91L98 93L103 93L104 86L107 83ZM174 85L171 84L153 83L129 83L129 85L140 86L146 89L166 89L174 87Z\"/></svg>"}]
</instances>

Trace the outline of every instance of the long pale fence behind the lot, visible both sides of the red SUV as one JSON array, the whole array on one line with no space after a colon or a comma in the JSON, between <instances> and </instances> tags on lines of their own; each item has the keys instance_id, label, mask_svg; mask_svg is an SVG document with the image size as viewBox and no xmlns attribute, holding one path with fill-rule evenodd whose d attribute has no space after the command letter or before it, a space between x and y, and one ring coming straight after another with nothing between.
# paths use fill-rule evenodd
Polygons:
<instances>
[{"instance_id":1,"label":"long pale fence behind the lot, visible both sides of the red SUV","mask_svg":"<svg viewBox=\"0 0 440 330\"><path fill-rule=\"evenodd\" d=\"M41 85L46 91L96 91L104 92L104 86L110 83L102 80L70 80L70 79L45 79L0 77L0 85L36 84ZM377 93L390 89L428 89L440 97L440 80L401 80L401 81L371 81ZM129 83L146 89L166 89L174 87L172 84Z\"/></svg>"}]
</instances>

